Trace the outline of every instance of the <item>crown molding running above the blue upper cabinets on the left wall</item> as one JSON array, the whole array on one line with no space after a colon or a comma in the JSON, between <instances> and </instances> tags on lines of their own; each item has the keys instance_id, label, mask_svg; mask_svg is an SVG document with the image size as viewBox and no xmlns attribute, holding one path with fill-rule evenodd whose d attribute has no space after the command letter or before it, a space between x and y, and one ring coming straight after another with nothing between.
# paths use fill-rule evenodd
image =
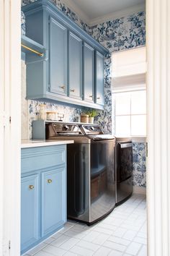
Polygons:
<instances>
[{"instance_id":1,"label":"crown molding running above the blue upper cabinets on the left wall","mask_svg":"<svg viewBox=\"0 0 170 256\"><path fill-rule=\"evenodd\" d=\"M89 25L89 16L87 16L76 4L74 4L71 0L61 0L61 3L66 4L66 7L71 9L72 12L77 14L77 16L85 22L87 25Z\"/></svg>"}]
</instances>

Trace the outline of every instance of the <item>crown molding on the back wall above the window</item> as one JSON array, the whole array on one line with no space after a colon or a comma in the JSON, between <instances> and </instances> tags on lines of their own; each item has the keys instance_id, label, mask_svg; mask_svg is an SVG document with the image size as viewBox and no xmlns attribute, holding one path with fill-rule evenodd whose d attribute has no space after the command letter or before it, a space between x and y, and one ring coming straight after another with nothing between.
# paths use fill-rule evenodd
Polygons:
<instances>
[{"instance_id":1,"label":"crown molding on the back wall above the window","mask_svg":"<svg viewBox=\"0 0 170 256\"><path fill-rule=\"evenodd\" d=\"M122 9L119 12L112 12L102 17L97 17L95 19L89 20L89 26L92 27L94 25L101 24L103 22L107 22L109 20L115 20L122 17L126 17L128 15L134 14L135 12L142 12L145 11L146 5L145 4L138 4L133 7L129 7L127 9Z\"/></svg>"}]
</instances>

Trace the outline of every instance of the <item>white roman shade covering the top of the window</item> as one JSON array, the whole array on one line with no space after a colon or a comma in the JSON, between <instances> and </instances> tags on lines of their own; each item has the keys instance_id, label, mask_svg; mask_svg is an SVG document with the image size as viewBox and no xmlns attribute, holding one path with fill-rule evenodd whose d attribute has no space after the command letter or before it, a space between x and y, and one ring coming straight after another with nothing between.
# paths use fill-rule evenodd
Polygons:
<instances>
[{"instance_id":1,"label":"white roman shade covering the top of the window","mask_svg":"<svg viewBox=\"0 0 170 256\"><path fill-rule=\"evenodd\" d=\"M141 46L112 54L112 89L146 89L146 47Z\"/></svg>"}]
</instances>

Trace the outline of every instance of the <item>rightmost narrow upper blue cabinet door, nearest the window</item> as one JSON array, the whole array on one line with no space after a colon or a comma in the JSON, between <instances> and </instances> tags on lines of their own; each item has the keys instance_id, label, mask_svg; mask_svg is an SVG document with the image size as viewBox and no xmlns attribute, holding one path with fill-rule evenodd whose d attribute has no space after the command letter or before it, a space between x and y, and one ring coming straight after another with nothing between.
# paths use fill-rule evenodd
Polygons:
<instances>
[{"instance_id":1,"label":"rightmost narrow upper blue cabinet door, nearest the window","mask_svg":"<svg viewBox=\"0 0 170 256\"><path fill-rule=\"evenodd\" d=\"M96 51L95 103L104 105L104 56Z\"/></svg>"}]
</instances>

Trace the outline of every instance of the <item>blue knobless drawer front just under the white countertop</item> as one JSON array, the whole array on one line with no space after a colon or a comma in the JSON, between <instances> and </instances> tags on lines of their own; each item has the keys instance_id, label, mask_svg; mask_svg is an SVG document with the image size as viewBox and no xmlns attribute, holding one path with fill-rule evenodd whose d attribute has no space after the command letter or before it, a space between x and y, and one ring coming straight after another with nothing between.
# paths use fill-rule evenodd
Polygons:
<instances>
[{"instance_id":1,"label":"blue knobless drawer front just under the white countertop","mask_svg":"<svg viewBox=\"0 0 170 256\"><path fill-rule=\"evenodd\" d=\"M66 145L22 148L22 174L66 164Z\"/></svg>"}]
</instances>

